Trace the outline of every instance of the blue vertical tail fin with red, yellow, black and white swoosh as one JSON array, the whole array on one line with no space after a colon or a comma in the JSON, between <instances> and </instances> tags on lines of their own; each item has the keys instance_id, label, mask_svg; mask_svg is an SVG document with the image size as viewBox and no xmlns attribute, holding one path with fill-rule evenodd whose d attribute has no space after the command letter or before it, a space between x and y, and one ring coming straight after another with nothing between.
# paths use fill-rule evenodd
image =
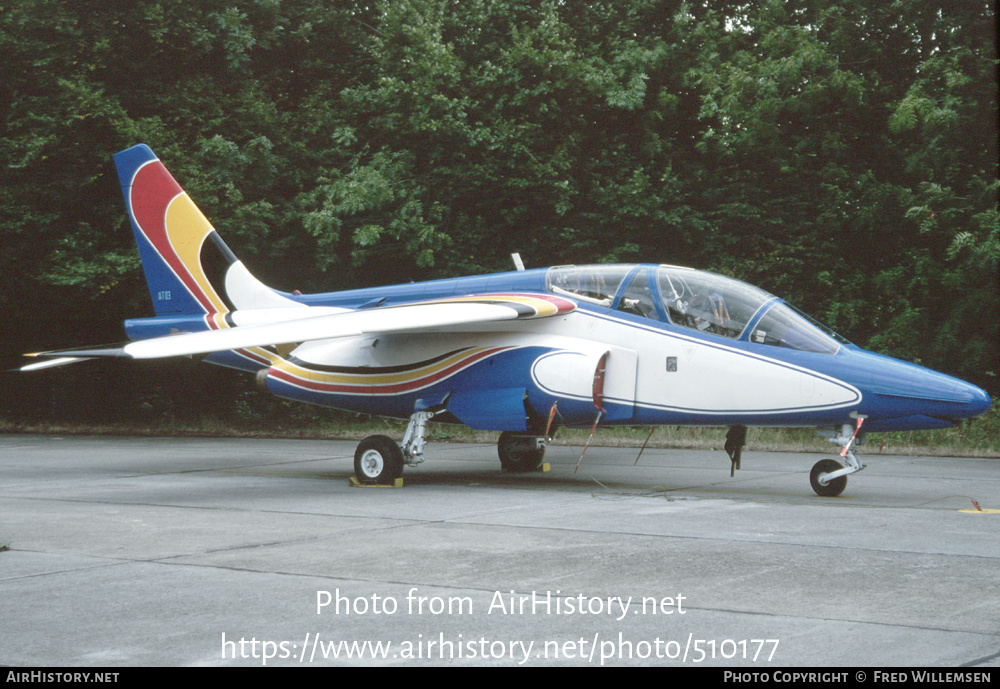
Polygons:
<instances>
[{"instance_id":1,"label":"blue vertical tail fin with red, yellow, black and white swoosh","mask_svg":"<svg viewBox=\"0 0 1000 689\"><path fill-rule=\"evenodd\" d=\"M247 271L148 146L115 166L157 316L204 315L215 329L237 309L299 306Z\"/></svg>"}]
</instances>

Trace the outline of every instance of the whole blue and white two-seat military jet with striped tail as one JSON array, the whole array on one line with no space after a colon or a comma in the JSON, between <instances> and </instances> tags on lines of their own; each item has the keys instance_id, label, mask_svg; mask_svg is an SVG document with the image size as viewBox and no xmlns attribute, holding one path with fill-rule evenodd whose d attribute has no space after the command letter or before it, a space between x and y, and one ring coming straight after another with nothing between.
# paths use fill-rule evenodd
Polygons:
<instances>
[{"instance_id":1,"label":"whole blue and white two-seat military jet with striped tail","mask_svg":"<svg viewBox=\"0 0 1000 689\"><path fill-rule=\"evenodd\" d=\"M118 347L42 352L201 356L275 395L409 419L401 444L358 445L362 483L423 461L430 419L501 431L508 471L536 469L558 427L815 427L842 446L810 482L839 495L865 432L950 427L991 404L976 386L865 351L779 297L671 265L518 270L327 294L251 275L145 145L115 156L156 315Z\"/></svg>"}]
</instances>

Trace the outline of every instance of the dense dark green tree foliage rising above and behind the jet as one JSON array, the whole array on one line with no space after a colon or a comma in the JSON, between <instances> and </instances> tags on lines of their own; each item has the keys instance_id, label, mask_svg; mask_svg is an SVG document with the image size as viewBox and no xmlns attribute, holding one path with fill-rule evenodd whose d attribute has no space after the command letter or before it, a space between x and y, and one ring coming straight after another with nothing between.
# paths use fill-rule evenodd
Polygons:
<instances>
[{"instance_id":1,"label":"dense dark green tree foliage rising above and behind the jet","mask_svg":"<svg viewBox=\"0 0 1000 689\"><path fill-rule=\"evenodd\" d=\"M997 389L986 0L0 4L13 350L147 313L145 142L282 289L688 264Z\"/></svg>"}]
</instances>

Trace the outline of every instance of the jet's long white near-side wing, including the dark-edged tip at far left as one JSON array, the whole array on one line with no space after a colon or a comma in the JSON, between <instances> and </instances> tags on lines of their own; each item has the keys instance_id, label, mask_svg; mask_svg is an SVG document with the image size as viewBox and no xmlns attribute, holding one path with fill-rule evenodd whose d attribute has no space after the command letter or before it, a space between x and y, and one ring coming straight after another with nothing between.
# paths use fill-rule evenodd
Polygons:
<instances>
[{"instance_id":1,"label":"jet's long white near-side wing, including the dark-edged tip at far left","mask_svg":"<svg viewBox=\"0 0 1000 689\"><path fill-rule=\"evenodd\" d=\"M546 318L575 308L576 304L569 299L552 295L486 294L319 316L303 313L301 318L280 323L180 333L120 347L38 352L28 356L54 358L43 364L29 364L21 370L59 366L87 358L159 359L363 334L427 332L455 326Z\"/></svg>"}]
</instances>

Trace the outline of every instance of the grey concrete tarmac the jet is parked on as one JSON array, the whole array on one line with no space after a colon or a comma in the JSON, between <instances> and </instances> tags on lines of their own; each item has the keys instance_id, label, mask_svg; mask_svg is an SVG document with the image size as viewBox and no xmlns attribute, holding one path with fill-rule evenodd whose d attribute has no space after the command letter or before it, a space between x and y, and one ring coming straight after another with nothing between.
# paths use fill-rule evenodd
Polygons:
<instances>
[{"instance_id":1,"label":"grey concrete tarmac the jet is parked on","mask_svg":"<svg viewBox=\"0 0 1000 689\"><path fill-rule=\"evenodd\" d=\"M0 436L0 664L1000 664L998 460L355 445Z\"/></svg>"}]
</instances>

